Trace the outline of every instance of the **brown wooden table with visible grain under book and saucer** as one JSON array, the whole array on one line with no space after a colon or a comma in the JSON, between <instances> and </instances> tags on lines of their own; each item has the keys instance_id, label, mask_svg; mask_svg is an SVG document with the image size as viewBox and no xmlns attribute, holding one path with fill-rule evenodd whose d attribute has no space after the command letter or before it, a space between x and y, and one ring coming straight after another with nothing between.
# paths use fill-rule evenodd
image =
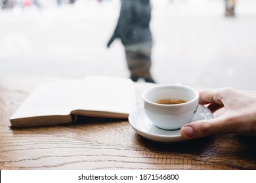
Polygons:
<instances>
[{"instance_id":1,"label":"brown wooden table with visible grain under book and saucer","mask_svg":"<svg viewBox=\"0 0 256 183\"><path fill-rule=\"evenodd\" d=\"M256 137L161 144L137 135L127 120L90 117L10 129L12 112L37 84L51 80L0 78L0 169L256 169Z\"/></svg>"}]
</instances>

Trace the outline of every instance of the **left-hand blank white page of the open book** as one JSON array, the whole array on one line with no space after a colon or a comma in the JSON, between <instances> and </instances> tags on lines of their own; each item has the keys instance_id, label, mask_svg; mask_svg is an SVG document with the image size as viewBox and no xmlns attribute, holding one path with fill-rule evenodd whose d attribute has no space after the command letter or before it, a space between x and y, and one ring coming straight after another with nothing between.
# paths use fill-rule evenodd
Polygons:
<instances>
[{"instance_id":1,"label":"left-hand blank white page of the open book","mask_svg":"<svg viewBox=\"0 0 256 183\"><path fill-rule=\"evenodd\" d=\"M12 114L15 118L69 115L81 80L66 80L38 86Z\"/></svg>"}]
</instances>

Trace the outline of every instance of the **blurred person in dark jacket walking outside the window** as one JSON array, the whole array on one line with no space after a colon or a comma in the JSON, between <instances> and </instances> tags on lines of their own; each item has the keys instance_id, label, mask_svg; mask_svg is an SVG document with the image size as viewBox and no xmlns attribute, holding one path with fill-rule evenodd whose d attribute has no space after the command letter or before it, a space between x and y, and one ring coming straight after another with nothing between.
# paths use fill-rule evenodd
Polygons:
<instances>
[{"instance_id":1,"label":"blurred person in dark jacket walking outside the window","mask_svg":"<svg viewBox=\"0 0 256 183\"><path fill-rule=\"evenodd\" d=\"M121 9L116 29L110 44L118 38L125 48L127 67L131 73L131 80L137 82L143 78L145 82L155 83L150 73L152 65L152 33L150 0L121 0Z\"/></svg>"}]
</instances>

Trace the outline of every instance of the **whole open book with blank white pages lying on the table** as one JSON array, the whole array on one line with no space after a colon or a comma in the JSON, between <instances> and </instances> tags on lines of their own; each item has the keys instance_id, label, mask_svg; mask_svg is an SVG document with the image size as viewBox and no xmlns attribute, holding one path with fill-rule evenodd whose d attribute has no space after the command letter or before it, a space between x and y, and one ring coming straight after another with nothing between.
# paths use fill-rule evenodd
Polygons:
<instances>
[{"instance_id":1,"label":"whole open book with blank white pages lying on the table","mask_svg":"<svg viewBox=\"0 0 256 183\"><path fill-rule=\"evenodd\" d=\"M43 84L12 114L11 127L69 124L77 115L127 119L150 86L109 76Z\"/></svg>"}]
</instances>

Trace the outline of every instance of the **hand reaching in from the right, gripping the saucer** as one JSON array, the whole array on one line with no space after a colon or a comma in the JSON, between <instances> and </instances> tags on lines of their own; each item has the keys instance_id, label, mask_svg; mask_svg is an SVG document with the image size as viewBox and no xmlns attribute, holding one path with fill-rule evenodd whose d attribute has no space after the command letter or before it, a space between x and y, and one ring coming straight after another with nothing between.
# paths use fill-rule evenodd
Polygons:
<instances>
[{"instance_id":1,"label":"hand reaching in from the right, gripping the saucer","mask_svg":"<svg viewBox=\"0 0 256 183\"><path fill-rule=\"evenodd\" d=\"M225 108L223 115L211 120L200 120L181 127L185 139L198 139L214 133L256 135L256 93L234 88L200 92L200 104L209 104L211 112Z\"/></svg>"}]
</instances>

